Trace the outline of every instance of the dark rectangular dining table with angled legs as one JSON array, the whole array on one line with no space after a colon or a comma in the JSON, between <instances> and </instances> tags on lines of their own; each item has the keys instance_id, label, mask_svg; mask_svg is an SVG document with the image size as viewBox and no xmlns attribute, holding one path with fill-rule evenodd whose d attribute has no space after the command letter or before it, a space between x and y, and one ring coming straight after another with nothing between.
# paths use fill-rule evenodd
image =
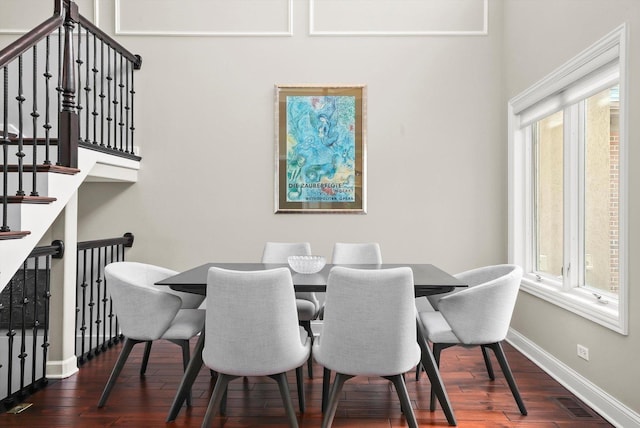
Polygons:
<instances>
[{"instance_id":1,"label":"dark rectangular dining table with angled legs","mask_svg":"<svg viewBox=\"0 0 640 428\"><path fill-rule=\"evenodd\" d=\"M291 271L291 277L293 280L293 286L296 292L324 292L327 287L327 278L331 269L336 266L333 264L326 264L322 270L312 274L302 274L295 271ZM361 265L344 265L356 269L390 269L395 267L409 267L413 271L413 281L415 296L430 296L434 294L448 293L458 288L467 287L467 284L458 280L449 273L432 264L422 263L405 263L405 264L361 264ZM289 267L288 264L277 263L205 263L192 269L181 272L177 275L163 279L156 282L156 285L168 286L173 290L182 291L187 293L195 293L206 295L207 290L207 275L209 269L212 267L218 267L222 269L239 270L239 271L255 271L265 269L275 269L279 267ZM417 341L421 349L420 363L424 368L431 387L440 402L440 406L447 418L449 425L456 425L456 419L451 408L449 396L440 377L440 371L436 364L433 352L429 347L424 335L422 334L421 323L416 319L418 326ZM182 405L184 404L191 386L195 381L198 372L202 368L202 350L204 348L204 333L201 333L192 357L189 361L187 369L184 372L178 391L173 399L169 414L167 416L167 422L174 421L180 412ZM327 379L328 380L328 379ZM324 395L324 394L323 394Z\"/></svg>"}]
</instances>

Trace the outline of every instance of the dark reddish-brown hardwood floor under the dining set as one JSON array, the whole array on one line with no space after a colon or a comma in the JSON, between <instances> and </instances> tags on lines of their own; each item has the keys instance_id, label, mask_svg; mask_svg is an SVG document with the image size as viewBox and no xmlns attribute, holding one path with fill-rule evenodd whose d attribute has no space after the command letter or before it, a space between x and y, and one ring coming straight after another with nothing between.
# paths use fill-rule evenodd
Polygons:
<instances>
[{"instance_id":1,"label":"dark reddish-brown hardwood floor under the dining set","mask_svg":"<svg viewBox=\"0 0 640 428\"><path fill-rule=\"evenodd\" d=\"M192 343L193 345L193 343ZM134 348L107 405L96 404L120 345L85 364L75 376L52 381L26 402L31 407L20 414L0 414L0 427L199 427L213 388L209 371L202 369L193 388L193 406L183 408L175 422L165 417L182 375L179 347L157 342L147 374L138 370L143 346ZM528 416L520 415L508 386L496 368L490 381L479 349L450 348L443 352L441 370L459 427L608 427L611 426L565 388L542 372L510 346L507 358ZM299 416L301 427L319 427L322 367L315 365L315 378L306 378L307 411ZM447 421L438 407L429 411L429 381L423 374L415 381L406 377L407 388L418 423L445 427ZM295 375L289 374L295 401ZM227 415L217 416L215 427L287 427L277 384L266 378L237 379L229 388ZM334 427L404 427L399 401L391 383L379 378L357 377L345 384Z\"/></svg>"}]
</instances>

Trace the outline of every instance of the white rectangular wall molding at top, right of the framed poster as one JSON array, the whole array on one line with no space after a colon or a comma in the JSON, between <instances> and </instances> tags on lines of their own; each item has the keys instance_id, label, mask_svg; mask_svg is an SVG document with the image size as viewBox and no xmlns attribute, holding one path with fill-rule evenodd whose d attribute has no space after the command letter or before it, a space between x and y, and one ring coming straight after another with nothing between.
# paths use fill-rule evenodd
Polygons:
<instances>
[{"instance_id":1,"label":"white rectangular wall molding at top, right of the framed poster","mask_svg":"<svg viewBox=\"0 0 640 428\"><path fill-rule=\"evenodd\" d=\"M435 29L428 28L428 24L425 24L427 27L423 29L413 29L413 30L402 30L402 25L406 25L406 21L402 18L398 18L398 29L381 29L376 28L377 24L373 21L370 22L370 27L368 29L356 29L356 28L342 28L342 29L333 29L333 30L322 30L322 23L319 22L321 18L318 18L319 15L319 4L322 3L323 0L309 0L309 34L312 36L486 36L489 34L489 0L468 0L470 2L478 3L482 5L482 17L479 21L481 22L480 28L459 28L459 29ZM346 0L342 0L346 1ZM389 4L393 3L397 0L386 0ZM417 1L416 3L427 3L428 0ZM443 1L443 5L446 4L445 0L431 0L431 1ZM345 3L342 3L343 5ZM407 3L408 4L408 3ZM405 6L407 5L405 4ZM397 7L393 6L393 7ZM367 7L368 11L371 11L371 5ZM381 14L384 14L383 9L380 9ZM424 11L416 10L415 14L409 14L413 16L423 15ZM347 16L344 16L344 12L341 13L342 20L347 21L349 23L361 23L366 22L367 17L364 15L350 15L347 13ZM390 17L388 14L384 15L385 25L390 22ZM334 22L334 20L332 20Z\"/></svg>"}]
</instances>

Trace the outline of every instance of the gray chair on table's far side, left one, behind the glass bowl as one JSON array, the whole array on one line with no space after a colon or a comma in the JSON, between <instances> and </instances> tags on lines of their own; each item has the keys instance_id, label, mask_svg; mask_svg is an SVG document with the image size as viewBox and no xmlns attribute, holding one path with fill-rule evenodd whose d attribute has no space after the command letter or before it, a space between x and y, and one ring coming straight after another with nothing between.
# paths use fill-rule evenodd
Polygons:
<instances>
[{"instance_id":1,"label":"gray chair on table's far side, left one, behind the glass bowl","mask_svg":"<svg viewBox=\"0 0 640 428\"><path fill-rule=\"evenodd\" d=\"M289 256L309 256L311 255L311 244L308 242L271 242L264 245L262 252L262 263L288 263ZM296 308L298 310L298 321L309 334L313 343L313 330L311 321L318 317L320 302L313 292L297 292ZM313 361L309 358L307 363L309 377L313 379Z\"/></svg>"}]
</instances>

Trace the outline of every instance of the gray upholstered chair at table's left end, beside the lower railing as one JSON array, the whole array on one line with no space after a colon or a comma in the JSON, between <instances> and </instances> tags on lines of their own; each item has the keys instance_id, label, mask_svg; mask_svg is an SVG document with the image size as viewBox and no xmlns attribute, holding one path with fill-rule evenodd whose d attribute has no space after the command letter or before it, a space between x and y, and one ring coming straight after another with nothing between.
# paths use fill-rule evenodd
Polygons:
<instances>
[{"instance_id":1,"label":"gray upholstered chair at table's left end, beside the lower railing","mask_svg":"<svg viewBox=\"0 0 640 428\"><path fill-rule=\"evenodd\" d=\"M141 375L146 370L149 357L148 344L158 339L166 339L180 345L183 366L186 369L190 359L189 339L202 331L205 321L204 310L183 309L185 302L180 295L153 286L155 281L162 279L160 270L155 267L140 263L115 262L105 267L104 274L125 340L98 401L98 407L103 407L107 402L131 350L138 343L147 344ZM196 303L194 300L189 305ZM187 404L190 404L190 397L187 397Z\"/></svg>"}]
</instances>

